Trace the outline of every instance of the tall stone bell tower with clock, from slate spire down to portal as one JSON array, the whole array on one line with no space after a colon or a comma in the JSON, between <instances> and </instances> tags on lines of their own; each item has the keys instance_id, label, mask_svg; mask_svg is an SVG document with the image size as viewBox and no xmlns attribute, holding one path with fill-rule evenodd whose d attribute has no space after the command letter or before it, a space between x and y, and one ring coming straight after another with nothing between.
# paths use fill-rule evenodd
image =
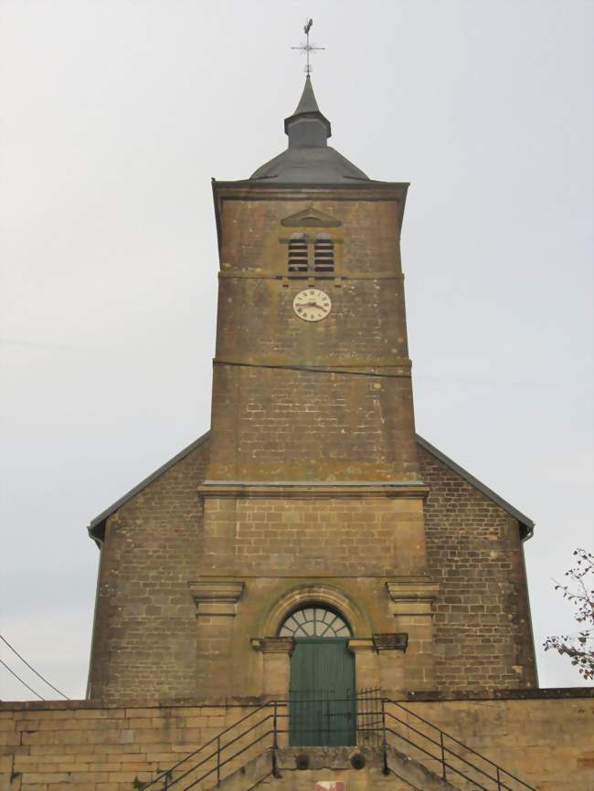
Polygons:
<instances>
[{"instance_id":1,"label":"tall stone bell tower with clock, from slate spire down to portal","mask_svg":"<svg viewBox=\"0 0 594 791\"><path fill-rule=\"evenodd\" d=\"M300 603L350 624L357 687L430 688L437 587L399 249L408 185L371 181L328 146L309 74L285 132L287 150L248 180L213 183L220 271L199 576L245 591L218 644L229 663L220 692L260 678L286 694L294 646L278 629ZM210 621L199 653L209 636ZM206 650L205 683L212 664Z\"/></svg>"}]
</instances>

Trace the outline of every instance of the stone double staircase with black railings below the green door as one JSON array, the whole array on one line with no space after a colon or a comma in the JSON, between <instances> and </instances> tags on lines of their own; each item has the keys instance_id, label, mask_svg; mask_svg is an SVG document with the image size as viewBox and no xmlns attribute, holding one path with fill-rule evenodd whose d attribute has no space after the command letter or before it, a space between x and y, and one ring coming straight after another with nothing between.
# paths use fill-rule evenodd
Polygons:
<instances>
[{"instance_id":1,"label":"stone double staircase with black railings below the green door","mask_svg":"<svg viewBox=\"0 0 594 791\"><path fill-rule=\"evenodd\" d=\"M368 701L356 699L357 746L289 747L288 703L270 701L145 783L142 791L266 786L326 791L333 782L336 791L536 791L406 705L379 697L371 705ZM334 736L345 730L345 722L335 728Z\"/></svg>"}]
</instances>

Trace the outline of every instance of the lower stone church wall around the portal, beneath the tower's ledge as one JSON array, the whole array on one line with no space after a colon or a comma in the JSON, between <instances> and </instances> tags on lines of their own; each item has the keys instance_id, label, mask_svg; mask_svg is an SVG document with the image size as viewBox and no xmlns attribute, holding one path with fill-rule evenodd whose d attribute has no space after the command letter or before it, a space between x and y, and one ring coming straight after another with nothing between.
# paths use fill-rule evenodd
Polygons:
<instances>
[{"instance_id":1,"label":"lower stone church wall around the portal, beneath the tower's ledge","mask_svg":"<svg viewBox=\"0 0 594 791\"><path fill-rule=\"evenodd\" d=\"M206 690L221 699L259 695L266 674L250 638L276 633L280 622L267 617L284 596L300 587L315 596L324 585L355 603L360 617L350 611L348 617L356 638L409 633L408 651L393 667L382 656L382 679L386 673L392 679L381 681L385 689L535 684L517 522L440 460L419 448L430 485L426 554L419 498L347 498L329 491L324 497L211 493L202 501L207 446L177 461L107 519L91 698L156 701ZM392 575L425 575L426 556L430 577L440 583L432 654L429 627L419 618L395 617L386 589ZM222 585L222 600L196 609L196 580ZM228 601L228 583L236 585L235 603ZM340 602L329 604L345 613ZM364 672L363 659L356 657L357 685L375 686L373 662L366 661Z\"/></svg>"}]
</instances>

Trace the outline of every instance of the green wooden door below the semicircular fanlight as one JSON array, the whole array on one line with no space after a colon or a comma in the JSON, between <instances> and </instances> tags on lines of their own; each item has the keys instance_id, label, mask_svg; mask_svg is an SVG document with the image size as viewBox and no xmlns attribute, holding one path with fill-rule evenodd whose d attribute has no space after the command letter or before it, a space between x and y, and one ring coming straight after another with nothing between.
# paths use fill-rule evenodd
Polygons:
<instances>
[{"instance_id":1,"label":"green wooden door below the semicircular fanlight","mask_svg":"<svg viewBox=\"0 0 594 791\"><path fill-rule=\"evenodd\" d=\"M295 640L289 691L289 744L355 744L354 659L346 639Z\"/></svg>"}]
</instances>

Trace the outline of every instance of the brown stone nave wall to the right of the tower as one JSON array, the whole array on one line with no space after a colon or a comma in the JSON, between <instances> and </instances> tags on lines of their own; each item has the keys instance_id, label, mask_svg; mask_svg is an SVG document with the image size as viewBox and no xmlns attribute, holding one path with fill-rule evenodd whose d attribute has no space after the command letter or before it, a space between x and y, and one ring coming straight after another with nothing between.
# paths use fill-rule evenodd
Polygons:
<instances>
[{"instance_id":1,"label":"brown stone nave wall to the right of the tower","mask_svg":"<svg viewBox=\"0 0 594 791\"><path fill-rule=\"evenodd\" d=\"M435 602L436 689L536 686L518 522L427 450L425 535Z\"/></svg>"}]
</instances>

